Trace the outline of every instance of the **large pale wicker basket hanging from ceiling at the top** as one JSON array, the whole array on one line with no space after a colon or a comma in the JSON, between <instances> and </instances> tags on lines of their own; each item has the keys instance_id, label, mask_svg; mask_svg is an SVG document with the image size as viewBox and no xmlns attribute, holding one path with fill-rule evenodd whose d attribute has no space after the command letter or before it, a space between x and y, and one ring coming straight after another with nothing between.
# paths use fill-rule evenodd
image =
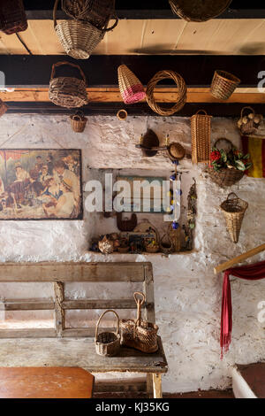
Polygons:
<instances>
[{"instance_id":1,"label":"large pale wicker basket hanging from ceiling at the top","mask_svg":"<svg viewBox=\"0 0 265 416\"><path fill-rule=\"evenodd\" d=\"M102 41L105 33L117 26L117 19L114 25L109 28L98 28L88 20L78 19L63 20L57 23L58 2L59 0L56 0L53 10L54 28L65 52L72 58L89 58L99 42Z\"/></svg>"}]
</instances>

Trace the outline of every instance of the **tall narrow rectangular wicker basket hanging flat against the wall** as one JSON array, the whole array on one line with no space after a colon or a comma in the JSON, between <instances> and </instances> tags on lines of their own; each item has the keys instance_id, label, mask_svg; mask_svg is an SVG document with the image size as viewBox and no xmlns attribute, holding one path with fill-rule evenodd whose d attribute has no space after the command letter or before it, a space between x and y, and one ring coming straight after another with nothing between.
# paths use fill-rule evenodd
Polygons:
<instances>
[{"instance_id":1,"label":"tall narrow rectangular wicker basket hanging flat against the wall","mask_svg":"<svg viewBox=\"0 0 265 416\"><path fill-rule=\"evenodd\" d=\"M204 112L204 114L200 114ZM194 164L208 163L211 151L211 117L199 110L191 118L192 160Z\"/></svg>"}]
</instances>

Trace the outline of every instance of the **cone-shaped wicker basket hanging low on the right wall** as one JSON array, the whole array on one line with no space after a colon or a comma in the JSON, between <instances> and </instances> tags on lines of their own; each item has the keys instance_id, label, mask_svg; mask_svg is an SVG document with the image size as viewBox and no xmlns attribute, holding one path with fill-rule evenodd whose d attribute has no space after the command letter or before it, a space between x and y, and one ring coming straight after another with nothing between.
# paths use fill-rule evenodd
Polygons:
<instances>
[{"instance_id":1,"label":"cone-shaped wicker basket hanging low on the right wall","mask_svg":"<svg viewBox=\"0 0 265 416\"><path fill-rule=\"evenodd\" d=\"M234 197L230 199L230 196ZM223 204L220 205L233 243L238 243L239 241L240 228L247 207L247 202L240 199L234 192L231 192L226 200L223 201Z\"/></svg>"}]
</instances>

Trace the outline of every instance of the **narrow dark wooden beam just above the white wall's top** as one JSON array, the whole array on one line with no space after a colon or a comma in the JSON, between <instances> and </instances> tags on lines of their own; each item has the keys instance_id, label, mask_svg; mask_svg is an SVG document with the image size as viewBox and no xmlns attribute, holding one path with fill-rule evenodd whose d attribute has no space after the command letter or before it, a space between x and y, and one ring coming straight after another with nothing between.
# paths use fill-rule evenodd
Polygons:
<instances>
[{"instance_id":1,"label":"narrow dark wooden beam just above the white wall's top","mask_svg":"<svg viewBox=\"0 0 265 416\"><path fill-rule=\"evenodd\" d=\"M75 110L68 110L63 107L59 107L52 103L8 103L9 109L7 113L23 113L23 114L42 114L42 115L70 115ZM164 107L170 107L172 104L163 104ZM215 103L201 103L192 104L188 103L184 108L175 114L177 117L191 117L198 110L204 109L208 114L214 117L231 117L239 118L244 104L232 103L232 104L215 104ZM158 114L153 112L147 103L125 105L122 103L90 103L82 107L82 111L86 116L95 115L117 115L118 110L121 108L128 112L128 116L157 116ZM264 114L265 104L255 104L255 111L257 113ZM172 116L173 117L173 116ZM123 122L123 121L121 121Z\"/></svg>"}]
</instances>

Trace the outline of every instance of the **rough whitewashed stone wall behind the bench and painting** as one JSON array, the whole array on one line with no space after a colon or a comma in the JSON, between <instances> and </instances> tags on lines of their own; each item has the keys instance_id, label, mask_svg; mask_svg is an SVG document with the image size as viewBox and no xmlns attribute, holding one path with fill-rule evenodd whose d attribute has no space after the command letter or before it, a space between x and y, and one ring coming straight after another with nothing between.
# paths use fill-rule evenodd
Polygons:
<instances>
[{"instance_id":1,"label":"rough whitewashed stone wall behind the bench and painting","mask_svg":"<svg viewBox=\"0 0 265 416\"><path fill-rule=\"evenodd\" d=\"M66 116L46 117L4 115L1 118L0 148L78 148L83 152L83 180L92 168L133 168L171 170L163 153L142 158L135 148L147 127L154 129L161 143L169 133L172 141L191 148L190 123L184 118L91 117L83 134L75 134ZM16 134L17 133L17 134ZM240 144L231 119L213 119L212 142L227 137ZM59 143L59 144L58 144ZM180 169L188 170L197 181L198 216L195 251L191 254L102 256L87 253L88 242L103 227L102 218L87 214L83 221L2 221L0 223L0 261L85 260L151 261L155 275L156 320L163 337L169 373L163 376L163 391L225 389L231 385L230 367L265 359L264 324L257 319L257 305L265 300L265 281L240 281L232 278L233 334L231 351L220 360L219 330L222 276L213 267L265 240L265 181L245 177L231 187L246 199L249 208L238 244L231 243L218 207L228 191L218 188L202 173L201 167L185 160ZM148 174L148 173L147 173ZM184 183L190 186L190 183ZM107 221L107 220L105 220ZM103 227L104 228L104 227ZM264 259L264 253L250 259ZM104 297L110 296L101 287ZM133 287L117 288L121 296ZM83 297L86 285L67 285L68 296ZM51 296L49 285L0 285L0 297ZM90 293L91 295L91 293ZM21 316L22 318L22 316ZM32 316L31 316L32 318ZM42 319L47 318L45 314ZM69 317L70 324L84 319L79 313Z\"/></svg>"}]
</instances>

